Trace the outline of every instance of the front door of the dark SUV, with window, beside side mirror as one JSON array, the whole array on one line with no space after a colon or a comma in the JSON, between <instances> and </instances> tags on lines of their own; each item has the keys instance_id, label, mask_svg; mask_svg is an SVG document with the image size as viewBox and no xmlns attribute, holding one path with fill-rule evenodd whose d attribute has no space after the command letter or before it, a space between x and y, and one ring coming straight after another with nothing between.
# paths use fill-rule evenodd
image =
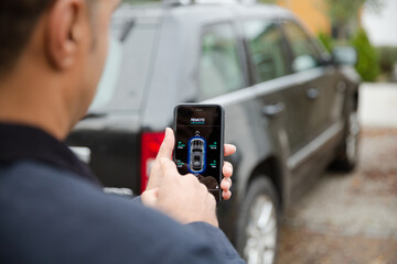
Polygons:
<instances>
[{"instance_id":1,"label":"front door of the dark SUV, with window, beside side mirror","mask_svg":"<svg viewBox=\"0 0 397 264\"><path fill-rule=\"evenodd\" d=\"M335 102L332 78L334 70L324 66L318 47L297 22L282 21L280 25L290 47L292 76L301 87L296 95L288 96L287 100L289 105L293 105L296 98L300 98L301 107L305 108L304 125L301 127L305 130L304 140L288 161L288 166L293 172L293 190L301 193L304 188L299 187L309 186L324 169L332 155L332 146L328 143L339 130L339 127L333 127L332 120L332 106ZM293 130L299 130L299 127Z\"/></svg>"}]
</instances>

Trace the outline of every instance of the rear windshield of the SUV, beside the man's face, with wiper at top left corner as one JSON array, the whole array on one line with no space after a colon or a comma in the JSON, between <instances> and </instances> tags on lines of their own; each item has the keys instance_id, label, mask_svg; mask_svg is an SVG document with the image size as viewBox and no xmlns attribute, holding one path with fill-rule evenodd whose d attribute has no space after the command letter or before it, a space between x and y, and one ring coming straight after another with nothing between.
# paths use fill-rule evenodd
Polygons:
<instances>
[{"instance_id":1,"label":"rear windshield of the SUV, beside the man's face, with wiper at top left corner","mask_svg":"<svg viewBox=\"0 0 397 264\"><path fill-rule=\"evenodd\" d=\"M150 79L157 25L115 21L109 52L89 113L138 110Z\"/></svg>"}]
</instances>

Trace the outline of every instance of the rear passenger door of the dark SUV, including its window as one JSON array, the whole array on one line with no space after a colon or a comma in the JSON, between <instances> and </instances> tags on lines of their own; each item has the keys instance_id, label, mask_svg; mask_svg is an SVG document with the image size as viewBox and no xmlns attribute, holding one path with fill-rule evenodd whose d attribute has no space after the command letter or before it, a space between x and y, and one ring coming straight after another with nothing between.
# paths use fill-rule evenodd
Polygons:
<instances>
[{"instance_id":1,"label":"rear passenger door of the dark SUV, including its window","mask_svg":"<svg viewBox=\"0 0 397 264\"><path fill-rule=\"evenodd\" d=\"M244 22L253 81L262 106L262 118L282 155L296 153L305 139L307 109L299 95L302 87L291 78L288 50L276 21L249 19Z\"/></svg>"}]
</instances>

